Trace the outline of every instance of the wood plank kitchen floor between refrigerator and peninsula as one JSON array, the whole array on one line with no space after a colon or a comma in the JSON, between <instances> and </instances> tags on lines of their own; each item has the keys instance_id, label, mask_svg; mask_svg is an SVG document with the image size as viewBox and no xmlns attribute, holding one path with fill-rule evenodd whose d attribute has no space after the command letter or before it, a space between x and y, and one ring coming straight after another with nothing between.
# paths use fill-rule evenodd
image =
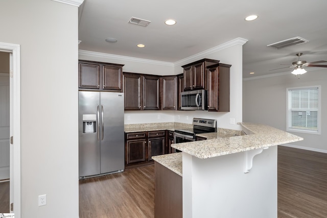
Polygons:
<instances>
[{"instance_id":1,"label":"wood plank kitchen floor between refrigerator and peninsula","mask_svg":"<svg viewBox=\"0 0 327 218\"><path fill-rule=\"evenodd\" d=\"M80 180L80 218L154 217L154 165Z\"/></svg>"}]
</instances>

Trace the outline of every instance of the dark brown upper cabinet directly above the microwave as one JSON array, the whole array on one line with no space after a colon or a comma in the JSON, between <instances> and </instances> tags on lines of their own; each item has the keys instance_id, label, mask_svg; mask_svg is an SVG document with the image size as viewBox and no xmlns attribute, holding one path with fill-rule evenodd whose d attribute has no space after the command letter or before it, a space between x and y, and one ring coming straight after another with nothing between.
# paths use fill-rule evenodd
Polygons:
<instances>
[{"instance_id":1,"label":"dark brown upper cabinet directly above the microwave","mask_svg":"<svg viewBox=\"0 0 327 218\"><path fill-rule=\"evenodd\" d=\"M201 59L183 65L184 91L206 89L206 67L219 63L219 60Z\"/></svg>"}]
</instances>

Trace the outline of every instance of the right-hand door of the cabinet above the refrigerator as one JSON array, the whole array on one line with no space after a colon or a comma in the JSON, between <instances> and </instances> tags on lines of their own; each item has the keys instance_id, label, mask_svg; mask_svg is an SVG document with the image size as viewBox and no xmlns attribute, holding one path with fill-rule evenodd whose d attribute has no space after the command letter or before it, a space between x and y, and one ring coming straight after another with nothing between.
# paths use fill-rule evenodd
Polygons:
<instances>
[{"instance_id":1,"label":"right-hand door of the cabinet above the refrigerator","mask_svg":"<svg viewBox=\"0 0 327 218\"><path fill-rule=\"evenodd\" d=\"M122 91L122 67L104 65L102 70L103 89Z\"/></svg>"}]
</instances>

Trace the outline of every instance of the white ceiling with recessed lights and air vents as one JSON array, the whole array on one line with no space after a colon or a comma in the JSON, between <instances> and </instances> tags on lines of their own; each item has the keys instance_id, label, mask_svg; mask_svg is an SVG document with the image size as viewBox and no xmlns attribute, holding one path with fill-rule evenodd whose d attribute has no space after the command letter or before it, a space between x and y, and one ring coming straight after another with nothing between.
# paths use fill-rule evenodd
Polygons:
<instances>
[{"instance_id":1,"label":"white ceiling with recessed lights and air vents","mask_svg":"<svg viewBox=\"0 0 327 218\"><path fill-rule=\"evenodd\" d=\"M299 52L307 62L327 60L326 9L326 0L85 0L79 8L79 49L174 63L241 37L248 40L243 78L278 74L292 71L272 69L291 65ZM250 14L259 18L245 21ZM151 23L133 25L131 17ZM168 18L176 25L165 25ZM309 42L279 50L267 47L296 36ZM108 37L118 42L108 43ZM139 43L146 47L139 49Z\"/></svg>"}]
</instances>

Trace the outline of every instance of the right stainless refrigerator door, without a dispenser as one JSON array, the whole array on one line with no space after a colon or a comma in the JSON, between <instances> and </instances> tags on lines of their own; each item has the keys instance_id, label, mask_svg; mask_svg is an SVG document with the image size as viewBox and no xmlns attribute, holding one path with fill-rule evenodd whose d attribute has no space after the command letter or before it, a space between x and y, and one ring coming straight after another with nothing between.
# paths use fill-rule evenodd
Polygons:
<instances>
[{"instance_id":1,"label":"right stainless refrigerator door, without a dispenser","mask_svg":"<svg viewBox=\"0 0 327 218\"><path fill-rule=\"evenodd\" d=\"M101 174L125 168L124 93L101 92ZM100 131L100 132L101 132Z\"/></svg>"}]
</instances>

